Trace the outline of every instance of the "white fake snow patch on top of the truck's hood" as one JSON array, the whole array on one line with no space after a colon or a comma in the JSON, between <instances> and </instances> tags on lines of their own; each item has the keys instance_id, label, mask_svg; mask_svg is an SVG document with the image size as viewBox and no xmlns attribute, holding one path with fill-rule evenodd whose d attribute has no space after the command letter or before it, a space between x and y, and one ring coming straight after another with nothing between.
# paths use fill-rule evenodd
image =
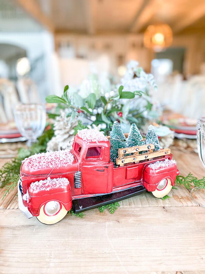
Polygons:
<instances>
[{"instance_id":1,"label":"white fake snow patch on top of the truck's hood","mask_svg":"<svg viewBox=\"0 0 205 274\"><path fill-rule=\"evenodd\" d=\"M24 160L24 166L30 170L41 168L59 168L72 165L74 156L70 149L58 150L54 152L39 153Z\"/></svg>"}]
</instances>

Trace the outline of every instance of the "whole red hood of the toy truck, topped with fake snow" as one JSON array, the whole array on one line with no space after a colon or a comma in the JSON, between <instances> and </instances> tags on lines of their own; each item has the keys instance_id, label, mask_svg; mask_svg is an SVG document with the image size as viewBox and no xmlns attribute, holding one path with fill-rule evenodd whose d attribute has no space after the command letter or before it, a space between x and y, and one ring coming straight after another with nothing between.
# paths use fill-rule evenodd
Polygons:
<instances>
[{"instance_id":1,"label":"whole red hood of the toy truck, topped with fake snow","mask_svg":"<svg viewBox=\"0 0 205 274\"><path fill-rule=\"evenodd\" d=\"M70 149L54 152L39 153L26 158L21 171L26 174L49 174L51 171L58 173L69 172L69 166L76 163ZM54 172L55 173L55 172Z\"/></svg>"}]
</instances>

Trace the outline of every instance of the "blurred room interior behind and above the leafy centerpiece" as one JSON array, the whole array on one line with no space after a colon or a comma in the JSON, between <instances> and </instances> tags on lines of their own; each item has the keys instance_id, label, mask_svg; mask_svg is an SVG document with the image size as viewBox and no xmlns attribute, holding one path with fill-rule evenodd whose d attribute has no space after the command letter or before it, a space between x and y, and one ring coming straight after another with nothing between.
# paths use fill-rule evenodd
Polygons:
<instances>
[{"instance_id":1,"label":"blurred room interior behind and above the leafy centerpiece","mask_svg":"<svg viewBox=\"0 0 205 274\"><path fill-rule=\"evenodd\" d=\"M0 122L90 74L118 83L130 60L164 108L204 115L204 34L203 0L0 0Z\"/></svg>"}]
</instances>

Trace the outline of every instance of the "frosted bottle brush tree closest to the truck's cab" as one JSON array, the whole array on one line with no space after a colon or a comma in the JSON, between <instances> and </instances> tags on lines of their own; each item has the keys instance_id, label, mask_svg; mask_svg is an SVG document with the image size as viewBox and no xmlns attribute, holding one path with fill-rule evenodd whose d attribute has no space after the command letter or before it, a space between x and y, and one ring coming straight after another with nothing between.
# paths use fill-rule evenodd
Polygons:
<instances>
[{"instance_id":1,"label":"frosted bottle brush tree closest to the truck's cab","mask_svg":"<svg viewBox=\"0 0 205 274\"><path fill-rule=\"evenodd\" d=\"M116 164L118 158L118 149L126 147L125 135L120 124L115 121L110 135L110 160Z\"/></svg>"}]
</instances>

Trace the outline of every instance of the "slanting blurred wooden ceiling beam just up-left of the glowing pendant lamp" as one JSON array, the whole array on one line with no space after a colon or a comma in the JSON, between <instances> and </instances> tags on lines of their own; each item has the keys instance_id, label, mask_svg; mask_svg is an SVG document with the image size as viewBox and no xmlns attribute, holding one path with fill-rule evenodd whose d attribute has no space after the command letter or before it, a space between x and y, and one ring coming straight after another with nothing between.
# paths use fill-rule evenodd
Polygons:
<instances>
[{"instance_id":1,"label":"slanting blurred wooden ceiling beam just up-left of the glowing pendant lamp","mask_svg":"<svg viewBox=\"0 0 205 274\"><path fill-rule=\"evenodd\" d=\"M149 24L149 20L156 12L156 2L154 0L144 0L141 8L138 10L129 31L138 32L144 26Z\"/></svg>"}]
</instances>

